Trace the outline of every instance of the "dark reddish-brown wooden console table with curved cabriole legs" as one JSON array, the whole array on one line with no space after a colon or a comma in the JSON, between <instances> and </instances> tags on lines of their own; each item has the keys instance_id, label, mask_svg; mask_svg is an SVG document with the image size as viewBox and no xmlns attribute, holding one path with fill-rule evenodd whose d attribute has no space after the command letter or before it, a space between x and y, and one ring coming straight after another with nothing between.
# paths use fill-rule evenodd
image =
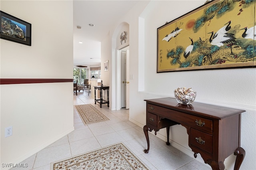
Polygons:
<instances>
[{"instance_id":1,"label":"dark reddish-brown wooden console table with curved cabriole legs","mask_svg":"<svg viewBox=\"0 0 256 170\"><path fill-rule=\"evenodd\" d=\"M178 104L176 99L160 98L145 100L146 125L144 134L148 143L148 131L167 130L169 145L170 126L180 124L187 129L188 146L194 157L200 153L204 162L213 170L224 170L224 160L232 153L236 155L234 170L238 170L244 160L245 150L240 147L241 113L244 110L232 109L194 102L192 105Z\"/></svg>"}]
</instances>

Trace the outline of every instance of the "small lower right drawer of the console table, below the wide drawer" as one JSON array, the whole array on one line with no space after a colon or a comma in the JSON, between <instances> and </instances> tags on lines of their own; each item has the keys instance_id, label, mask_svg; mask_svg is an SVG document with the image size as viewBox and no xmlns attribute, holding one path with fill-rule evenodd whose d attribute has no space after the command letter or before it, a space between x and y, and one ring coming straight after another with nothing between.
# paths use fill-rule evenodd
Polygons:
<instances>
[{"instance_id":1,"label":"small lower right drawer of the console table, below the wide drawer","mask_svg":"<svg viewBox=\"0 0 256 170\"><path fill-rule=\"evenodd\" d=\"M190 144L212 154L212 135L208 133L191 128Z\"/></svg>"}]
</instances>

